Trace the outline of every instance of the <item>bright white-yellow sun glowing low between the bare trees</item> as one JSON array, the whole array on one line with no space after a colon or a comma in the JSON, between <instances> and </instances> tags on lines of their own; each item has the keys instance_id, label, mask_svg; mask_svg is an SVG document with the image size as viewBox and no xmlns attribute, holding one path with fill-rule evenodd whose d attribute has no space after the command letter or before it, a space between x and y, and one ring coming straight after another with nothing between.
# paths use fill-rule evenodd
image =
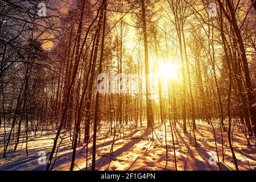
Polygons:
<instances>
[{"instance_id":1,"label":"bright white-yellow sun glowing low between the bare trees","mask_svg":"<svg viewBox=\"0 0 256 182\"><path fill-rule=\"evenodd\" d=\"M164 81L174 80L178 81L180 78L180 65L167 63L159 63L159 76Z\"/></svg>"}]
</instances>

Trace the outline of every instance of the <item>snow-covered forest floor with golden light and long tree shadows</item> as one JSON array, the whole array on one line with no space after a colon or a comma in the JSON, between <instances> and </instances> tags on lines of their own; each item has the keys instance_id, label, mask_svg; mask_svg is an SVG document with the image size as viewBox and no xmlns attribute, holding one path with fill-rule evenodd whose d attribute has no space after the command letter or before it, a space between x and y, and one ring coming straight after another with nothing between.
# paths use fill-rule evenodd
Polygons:
<instances>
[{"instance_id":1,"label":"snow-covered forest floor with golden light and long tree shadows","mask_svg":"<svg viewBox=\"0 0 256 182\"><path fill-rule=\"evenodd\" d=\"M232 159L232 152L229 148L227 132L223 132L224 156L222 160L221 130L218 122L213 123L216 130L218 155L222 170L235 170ZM228 126L228 123L226 123ZM175 151L177 170L219 170L216 147L212 126L207 123L197 121L195 130L197 147L192 130L187 125L188 133L184 134L182 122L177 122L174 128ZM10 128L9 128L10 130ZM6 130L7 134L8 129ZM97 133L97 170L174 170L174 147L169 122L166 122L167 149L164 124L156 123L154 131L147 130L146 122L138 128L134 127L134 122L129 122L121 129L117 129L113 144L113 155L110 149L113 143L113 133L110 134L109 125L102 122ZM83 131L83 130L81 130ZM247 147L247 140L240 126L232 127L233 147L236 154L238 168L240 170L250 170L256 166L255 138L251 137L250 143L253 148ZM3 127L1 128L0 151L3 151ZM82 132L81 132L82 133ZM28 156L26 155L26 135L23 133L17 151L10 151L7 158L3 159L0 153L0 170L45 170L46 164L39 164L39 152L46 152L46 163L53 146L53 138L56 131L51 131L46 135L45 131L39 131L34 137L31 133L28 138ZM92 136L92 135L91 135ZM154 139L152 138L154 137ZM72 158L72 142L69 134L61 133L60 147L57 156L54 155L52 170L69 170ZM81 140L83 139L81 135ZM59 142L60 142L59 138ZM57 145L59 146L59 144ZM14 148L14 144L11 146ZM88 145L88 170L92 157L92 139ZM86 169L86 146L79 144L76 152L75 170Z\"/></svg>"}]
</instances>

